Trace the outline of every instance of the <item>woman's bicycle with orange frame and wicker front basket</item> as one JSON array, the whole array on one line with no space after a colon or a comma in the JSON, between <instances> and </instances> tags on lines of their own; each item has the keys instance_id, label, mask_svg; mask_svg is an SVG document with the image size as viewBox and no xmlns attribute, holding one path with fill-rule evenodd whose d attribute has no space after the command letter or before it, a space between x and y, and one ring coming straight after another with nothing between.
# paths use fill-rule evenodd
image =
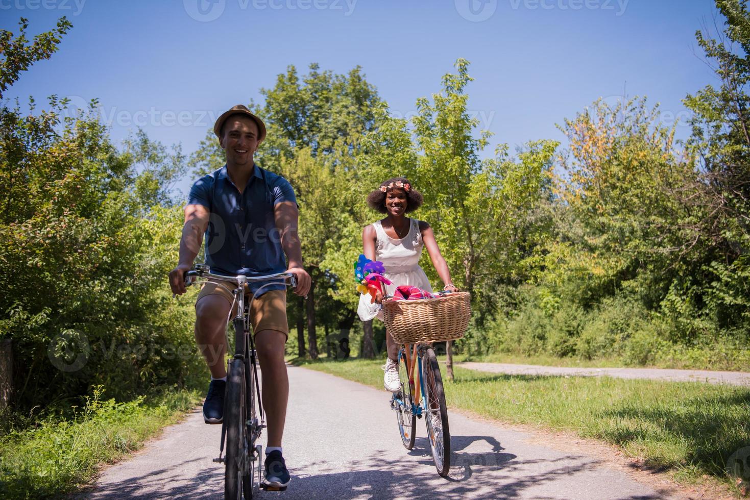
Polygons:
<instances>
[{"instance_id":1,"label":"woman's bicycle with orange frame and wicker front basket","mask_svg":"<svg viewBox=\"0 0 750 500\"><path fill-rule=\"evenodd\" d=\"M451 467L451 433L443 376L433 343L463 337L471 316L471 295L440 292L439 298L417 301L383 301L383 319L396 343L401 388L391 397L404 448L411 450L417 419L424 418L428 443L437 473Z\"/></svg>"}]
</instances>

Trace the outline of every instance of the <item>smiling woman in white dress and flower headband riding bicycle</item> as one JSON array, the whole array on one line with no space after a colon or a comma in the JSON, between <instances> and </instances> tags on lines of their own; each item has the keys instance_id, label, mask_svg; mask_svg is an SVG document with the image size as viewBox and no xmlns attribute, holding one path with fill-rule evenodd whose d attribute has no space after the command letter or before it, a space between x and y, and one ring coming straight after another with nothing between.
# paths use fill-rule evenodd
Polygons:
<instances>
[{"instance_id":1,"label":"smiling woman in white dress and flower headband riding bicycle","mask_svg":"<svg viewBox=\"0 0 750 500\"><path fill-rule=\"evenodd\" d=\"M425 271L419 267L422 247L427 247L432 265L437 275L443 280L445 289L458 292L458 288L451 282L451 273L446 259L443 259L440 253L430 225L422 220L406 216L407 213L419 208L422 202L422 194L414 190L412 183L404 177L383 181L377 190L368 195L368 205L382 214L387 214L387 217L365 226L362 231L363 253L368 259L383 262L386 268L383 276L392 282L391 285L386 286L386 292L389 295L392 295L401 285L416 286L426 292L432 292ZM370 295L363 294L359 298L357 309L359 318L362 321L375 317L383 320L383 311L380 306L382 301L381 293L377 294L374 302L371 301ZM388 359L383 366L383 370L386 370L383 385L386 390L396 392L401 388L398 379L398 344L394 342L388 331L386 331L386 346Z\"/></svg>"}]
</instances>

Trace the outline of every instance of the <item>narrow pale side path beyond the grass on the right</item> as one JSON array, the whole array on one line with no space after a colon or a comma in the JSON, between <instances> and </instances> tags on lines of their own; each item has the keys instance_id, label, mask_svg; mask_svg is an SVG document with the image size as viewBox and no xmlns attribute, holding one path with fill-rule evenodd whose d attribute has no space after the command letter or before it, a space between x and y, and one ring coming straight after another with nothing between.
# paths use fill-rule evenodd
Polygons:
<instances>
[{"instance_id":1,"label":"narrow pale side path beyond the grass on the right","mask_svg":"<svg viewBox=\"0 0 750 500\"><path fill-rule=\"evenodd\" d=\"M664 368L572 368L542 367L535 364L458 363L469 370L508 375L609 376L617 379L652 379L670 382L707 382L709 384L750 385L750 373L711 370L669 370Z\"/></svg>"}]
</instances>

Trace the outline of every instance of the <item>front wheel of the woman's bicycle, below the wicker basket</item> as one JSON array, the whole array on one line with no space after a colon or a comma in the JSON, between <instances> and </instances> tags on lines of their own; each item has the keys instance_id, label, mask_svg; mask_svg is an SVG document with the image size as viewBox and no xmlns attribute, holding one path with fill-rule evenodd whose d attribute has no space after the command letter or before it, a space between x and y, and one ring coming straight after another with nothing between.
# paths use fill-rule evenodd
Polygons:
<instances>
[{"instance_id":1,"label":"front wheel of the woman's bicycle, below the wicker basket","mask_svg":"<svg viewBox=\"0 0 750 500\"><path fill-rule=\"evenodd\" d=\"M422 376L425 381L425 425L428 433L428 443L435 463L437 473L443 478L451 469L451 432L448 425L448 407L446 393L443 389L443 376L440 375L440 365L437 364L435 351L430 347L425 349L422 358ZM441 428L439 432L433 428L431 414L439 413Z\"/></svg>"}]
</instances>

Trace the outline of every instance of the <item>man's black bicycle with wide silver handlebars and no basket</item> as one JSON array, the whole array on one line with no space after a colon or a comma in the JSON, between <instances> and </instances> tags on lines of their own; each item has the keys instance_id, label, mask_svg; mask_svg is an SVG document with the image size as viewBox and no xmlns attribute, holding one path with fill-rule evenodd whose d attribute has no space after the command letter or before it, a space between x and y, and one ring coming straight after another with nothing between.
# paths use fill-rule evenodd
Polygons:
<instances>
[{"instance_id":1,"label":"man's black bicycle with wide silver handlebars and no basket","mask_svg":"<svg viewBox=\"0 0 750 500\"><path fill-rule=\"evenodd\" d=\"M234 295L229 315L232 315L231 311L236 310L232 319L235 331L235 353L227 362L226 367L221 443L219 457L215 458L214 462L223 463L225 466L225 499L242 499L243 495L245 499L252 499L254 485L261 485L260 461L263 457L263 448L257 442L266 427L266 416L263 413L263 402L260 397L257 352L250 332L250 310L254 298L267 286L281 283L294 287L296 278L289 273L257 277L242 274L222 276L212 274L206 265L195 265L193 270L185 273L184 282L185 286L196 283L214 283L225 287ZM254 282L264 284L251 295L248 283ZM231 285L231 288L227 285ZM249 300L247 300L248 296ZM225 442L226 456L222 457ZM255 482L256 463L258 465L257 483ZM286 489L286 487L278 488L278 490Z\"/></svg>"}]
</instances>

